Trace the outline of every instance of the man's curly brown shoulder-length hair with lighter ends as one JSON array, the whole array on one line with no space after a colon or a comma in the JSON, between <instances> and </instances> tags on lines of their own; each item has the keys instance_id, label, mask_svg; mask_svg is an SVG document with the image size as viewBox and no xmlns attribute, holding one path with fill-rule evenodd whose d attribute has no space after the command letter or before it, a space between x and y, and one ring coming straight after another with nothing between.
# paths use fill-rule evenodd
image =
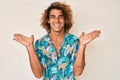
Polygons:
<instances>
[{"instance_id":1,"label":"man's curly brown shoulder-length hair with lighter ends","mask_svg":"<svg viewBox=\"0 0 120 80\"><path fill-rule=\"evenodd\" d=\"M73 15L72 10L69 5L61 2L52 3L47 9L45 9L42 18L41 18L41 26L46 29L46 31L50 32L50 24L48 23L50 11L52 9L61 10L65 19L65 32L69 32L71 27L73 26Z\"/></svg>"}]
</instances>

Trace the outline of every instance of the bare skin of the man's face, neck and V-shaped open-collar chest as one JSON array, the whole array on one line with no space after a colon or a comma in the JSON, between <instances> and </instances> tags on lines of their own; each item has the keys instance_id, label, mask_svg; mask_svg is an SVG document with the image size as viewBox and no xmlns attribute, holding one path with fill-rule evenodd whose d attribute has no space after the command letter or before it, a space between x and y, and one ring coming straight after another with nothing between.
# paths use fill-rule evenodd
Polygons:
<instances>
[{"instance_id":1,"label":"bare skin of the man's face, neck and V-shaped open-collar chest","mask_svg":"<svg viewBox=\"0 0 120 80\"><path fill-rule=\"evenodd\" d=\"M51 26L50 38L56 48L57 55L59 53L60 45L64 39L64 17L61 10L53 9L50 11L50 19L48 23Z\"/></svg>"}]
</instances>

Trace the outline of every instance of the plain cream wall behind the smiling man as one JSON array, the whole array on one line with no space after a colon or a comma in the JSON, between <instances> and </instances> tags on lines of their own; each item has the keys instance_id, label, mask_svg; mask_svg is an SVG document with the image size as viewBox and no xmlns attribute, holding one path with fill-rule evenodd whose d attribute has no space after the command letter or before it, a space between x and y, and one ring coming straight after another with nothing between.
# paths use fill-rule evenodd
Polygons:
<instances>
[{"instance_id":1,"label":"plain cream wall behind the smiling man","mask_svg":"<svg viewBox=\"0 0 120 80\"><path fill-rule=\"evenodd\" d=\"M26 48L13 40L15 33L46 34L40 26L43 11L57 0L0 0L0 80L37 80ZM120 0L58 0L73 10L70 33L101 30L87 45L86 66L77 80L120 80Z\"/></svg>"}]
</instances>

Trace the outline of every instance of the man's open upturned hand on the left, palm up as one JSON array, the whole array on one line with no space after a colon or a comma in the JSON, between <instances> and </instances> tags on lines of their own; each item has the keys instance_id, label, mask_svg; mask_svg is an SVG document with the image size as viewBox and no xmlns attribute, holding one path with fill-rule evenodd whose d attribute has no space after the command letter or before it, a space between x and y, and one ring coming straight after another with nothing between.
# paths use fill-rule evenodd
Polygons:
<instances>
[{"instance_id":1,"label":"man's open upturned hand on the left, palm up","mask_svg":"<svg viewBox=\"0 0 120 80\"><path fill-rule=\"evenodd\" d=\"M22 34L14 34L13 40L21 43L22 45L28 47L30 45L33 45L34 42L34 36L32 35L31 37L26 37Z\"/></svg>"}]
</instances>

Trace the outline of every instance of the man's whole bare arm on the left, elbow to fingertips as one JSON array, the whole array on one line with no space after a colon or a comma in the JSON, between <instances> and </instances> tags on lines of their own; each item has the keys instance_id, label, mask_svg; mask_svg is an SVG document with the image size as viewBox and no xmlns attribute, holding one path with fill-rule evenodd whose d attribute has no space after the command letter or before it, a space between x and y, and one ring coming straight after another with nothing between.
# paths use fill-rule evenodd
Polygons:
<instances>
[{"instance_id":1,"label":"man's whole bare arm on the left, elbow to fingertips","mask_svg":"<svg viewBox=\"0 0 120 80\"><path fill-rule=\"evenodd\" d=\"M15 34L13 39L26 47L29 55L32 72L35 75L35 77L41 78L43 76L43 68L38 60L33 46L34 37L26 37L22 34Z\"/></svg>"}]
</instances>

